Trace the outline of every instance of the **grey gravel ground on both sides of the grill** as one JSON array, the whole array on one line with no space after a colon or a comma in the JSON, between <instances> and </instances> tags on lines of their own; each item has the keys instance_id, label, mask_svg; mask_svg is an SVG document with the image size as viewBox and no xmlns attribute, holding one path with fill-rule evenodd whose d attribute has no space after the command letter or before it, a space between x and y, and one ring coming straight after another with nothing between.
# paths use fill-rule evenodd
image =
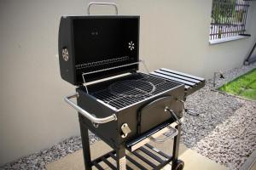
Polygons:
<instances>
[{"instance_id":1,"label":"grey gravel ground on both sides of the grill","mask_svg":"<svg viewBox=\"0 0 256 170\"><path fill-rule=\"evenodd\" d=\"M226 71L225 79L218 80L217 86L255 67L256 64ZM199 116L183 115L182 142L230 170L239 169L247 156L256 149L256 103L219 94L211 89L212 80L208 80L205 88L187 99L186 107L199 113ZM90 133L90 144L96 140L98 138ZM81 138L73 137L0 169L45 169L49 162L80 149Z\"/></svg>"}]
</instances>

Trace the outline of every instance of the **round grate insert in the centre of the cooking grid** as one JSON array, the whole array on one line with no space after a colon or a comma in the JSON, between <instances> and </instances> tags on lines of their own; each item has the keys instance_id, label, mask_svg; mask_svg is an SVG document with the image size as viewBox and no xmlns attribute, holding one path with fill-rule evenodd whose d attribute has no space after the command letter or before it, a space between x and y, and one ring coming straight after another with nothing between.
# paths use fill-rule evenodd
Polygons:
<instances>
[{"instance_id":1,"label":"round grate insert in the centre of the cooking grid","mask_svg":"<svg viewBox=\"0 0 256 170\"><path fill-rule=\"evenodd\" d=\"M151 95L155 90L155 86L152 82L143 80L125 80L114 82L108 89L111 94L116 96L143 97L148 94Z\"/></svg>"}]
</instances>

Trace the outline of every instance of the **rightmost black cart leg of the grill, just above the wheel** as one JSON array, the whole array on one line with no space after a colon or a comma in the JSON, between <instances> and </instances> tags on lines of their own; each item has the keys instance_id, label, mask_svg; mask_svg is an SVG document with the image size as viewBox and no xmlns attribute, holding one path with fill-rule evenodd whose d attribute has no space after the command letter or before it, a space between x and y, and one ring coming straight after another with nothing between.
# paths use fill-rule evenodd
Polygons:
<instances>
[{"instance_id":1,"label":"rightmost black cart leg of the grill, just above the wheel","mask_svg":"<svg viewBox=\"0 0 256 170\"><path fill-rule=\"evenodd\" d=\"M177 125L177 135L174 137L173 141L173 150L172 150L172 170L176 170L177 167L177 158L178 158L178 149L179 149L179 141L180 141L180 132L181 125Z\"/></svg>"}]
</instances>

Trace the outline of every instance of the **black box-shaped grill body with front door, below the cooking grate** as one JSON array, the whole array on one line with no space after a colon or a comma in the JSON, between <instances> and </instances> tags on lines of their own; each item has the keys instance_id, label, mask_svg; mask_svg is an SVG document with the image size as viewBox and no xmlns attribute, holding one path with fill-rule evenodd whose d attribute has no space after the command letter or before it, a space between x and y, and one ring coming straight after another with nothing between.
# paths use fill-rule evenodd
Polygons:
<instances>
[{"instance_id":1,"label":"black box-shaped grill body with front door, below the cooking grate","mask_svg":"<svg viewBox=\"0 0 256 170\"><path fill-rule=\"evenodd\" d=\"M126 79L128 77L123 77ZM96 83L89 88L93 90L98 87L109 87L113 82L119 82L120 80L111 80L108 82ZM182 100L184 96L184 86L182 84L175 84L173 88L169 88L166 91L155 94L147 99L143 99L136 102L133 105L128 105L125 108L118 110L113 109L105 105L103 102L98 101L92 94L87 94L84 87L77 88L79 93L78 105L85 111L94 113L96 117L106 117L115 114L117 121L108 122L95 127L92 122L86 119L84 116L79 116L79 122L85 127L88 127L90 131L96 133L106 143L113 148L118 148L119 145L125 144L125 142L131 139L136 139L148 130L156 127L164 122L174 122L172 116L165 111L166 106L175 111L179 117L182 116L183 104L177 100ZM131 133L126 138L122 138L121 126L127 123L131 128Z\"/></svg>"}]
</instances>

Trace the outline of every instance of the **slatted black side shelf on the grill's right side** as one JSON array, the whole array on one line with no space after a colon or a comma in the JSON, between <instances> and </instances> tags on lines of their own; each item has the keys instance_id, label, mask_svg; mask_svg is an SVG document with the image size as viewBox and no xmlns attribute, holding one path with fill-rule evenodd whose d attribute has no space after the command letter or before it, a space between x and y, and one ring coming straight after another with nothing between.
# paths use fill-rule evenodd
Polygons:
<instances>
[{"instance_id":1,"label":"slatted black side shelf on the grill's right side","mask_svg":"<svg viewBox=\"0 0 256 170\"><path fill-rule=\"evenodd\" d=\"M199 90L200 88L203 88L206 82L204 78L195 77L179 71L172 71L166 68L161 68L157 71L153 71L150 73L150 75L155 77L165 78L166 80L184 84L185 86L184 99L189 94L193 94L195 91Z\"/></svg>"}]
</instances>

